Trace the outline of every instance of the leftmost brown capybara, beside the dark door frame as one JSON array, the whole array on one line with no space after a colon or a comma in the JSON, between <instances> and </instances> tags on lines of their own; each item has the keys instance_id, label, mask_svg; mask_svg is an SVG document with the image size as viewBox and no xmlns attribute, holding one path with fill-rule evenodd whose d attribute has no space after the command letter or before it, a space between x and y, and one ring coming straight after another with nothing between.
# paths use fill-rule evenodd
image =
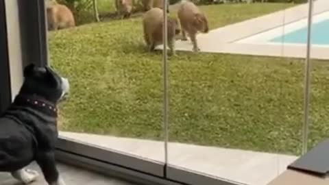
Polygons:
<instances>
[{"instance_id":1,"label":"leftmost brown capybara, beside the dark door frame","mask_svg":"<svg viewBox=\"0 0 329 185\"><path fill-rule=\"evenodd\" d=\"M49 31L75 27L73 13L66 5L61 5L56 3L56 1L52 1L52 3L46 3L46 7Z\"/></svg>"}]
</instances>

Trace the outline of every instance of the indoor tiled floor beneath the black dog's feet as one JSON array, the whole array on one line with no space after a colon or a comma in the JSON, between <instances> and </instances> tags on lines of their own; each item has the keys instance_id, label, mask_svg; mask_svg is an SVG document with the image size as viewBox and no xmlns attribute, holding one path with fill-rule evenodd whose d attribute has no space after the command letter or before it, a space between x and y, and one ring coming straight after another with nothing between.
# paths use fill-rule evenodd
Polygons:
<instances>
[{"instance_id":1,"label":"indoor tiled floor beneath the black dog's feet","mask_svg":"<svg viewBox=\"0 0 329 185\"><path fill-rule=\"evenodd\" d=\"M36 169L40 172L40 169L35 165L31 165L32 169ZM82 185L82 184L93 184L93 185L136 185L121 180L116 180L111 177L106 177L104 175L99 175L97 173L92 173L89 171L84 171L82 169L77 169L75 167L69 167L64 164L58 164L58 169L62 174L66 185ZM41 173L40 173L41 174ZM47 183L40 175L39 179L31 185L46 185ZM0 185L21 185L21 183L14 180L7 173L0 173Z\"/></svg>"}]
</instances>

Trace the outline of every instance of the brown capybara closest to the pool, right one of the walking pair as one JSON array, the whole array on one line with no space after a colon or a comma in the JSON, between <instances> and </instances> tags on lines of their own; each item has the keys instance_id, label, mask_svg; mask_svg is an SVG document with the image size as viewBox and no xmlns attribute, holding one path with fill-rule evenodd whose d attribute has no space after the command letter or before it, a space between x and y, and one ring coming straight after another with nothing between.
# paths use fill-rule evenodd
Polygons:
<instances>
[{"instance_id":1,"label":"brown capybara closest to the pool, right one of the walking pair","mask_svg":"<svg viewBox=\"0 0 329 185\"><path fill-rule=\"evenodd\" d=\"M208 20L203 12L191 1L182 1L178 8L178 18L182 26L182 40L187 40L186 32L193 43L193 51L199 51L197 33L208 33Z\"/></svg>"}]
</instances>

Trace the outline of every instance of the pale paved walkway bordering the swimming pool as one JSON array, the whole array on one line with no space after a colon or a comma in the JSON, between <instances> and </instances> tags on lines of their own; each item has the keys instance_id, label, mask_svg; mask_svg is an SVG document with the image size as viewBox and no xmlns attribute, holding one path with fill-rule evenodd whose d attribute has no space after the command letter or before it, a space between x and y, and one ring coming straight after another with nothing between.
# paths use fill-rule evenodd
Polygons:
<instances>
[{"instance_id":1,"label":"pale paved walkway bordering the swimming pool","mask_svg":"<svg viewBox=\"0 0 329 185\"><path fill-rule=\"evenodd\" d=\"M314 2L313 14L329 11L328 0ZM308 16L308 5L297 5L293 8L252 18L241 23L235 23L210 31L208 34L199 34L197 40L202 52L234 53L253 56L282 56L290 58L305 58L306 45L266 45L236 42L270 29L302 20ZM178 51L192 51L190 41L176 42ZM158 49L161 49L159 46ZM313 47L311 58L329 59L328 47Z\"/></svg>"}]
</instances>

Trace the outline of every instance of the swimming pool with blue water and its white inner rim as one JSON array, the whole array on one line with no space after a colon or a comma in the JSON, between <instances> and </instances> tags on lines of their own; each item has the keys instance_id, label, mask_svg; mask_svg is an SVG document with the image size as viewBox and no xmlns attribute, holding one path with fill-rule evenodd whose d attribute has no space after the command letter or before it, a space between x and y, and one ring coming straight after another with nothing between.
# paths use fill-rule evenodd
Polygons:
<instances>
[{"instance_id":1,"label":"swimming pool with blue water and its white inner rim","mask_svg":"<svg viewBox=\"0 0 329 185\"><path fill-rule=\"evenodd\" d=\"M237 43L254 45L306 45L307 18L269 29L241 40ZM329 47L329 11L313 15L311 44L313 47Z\"/></svg>"}]
</instances>

